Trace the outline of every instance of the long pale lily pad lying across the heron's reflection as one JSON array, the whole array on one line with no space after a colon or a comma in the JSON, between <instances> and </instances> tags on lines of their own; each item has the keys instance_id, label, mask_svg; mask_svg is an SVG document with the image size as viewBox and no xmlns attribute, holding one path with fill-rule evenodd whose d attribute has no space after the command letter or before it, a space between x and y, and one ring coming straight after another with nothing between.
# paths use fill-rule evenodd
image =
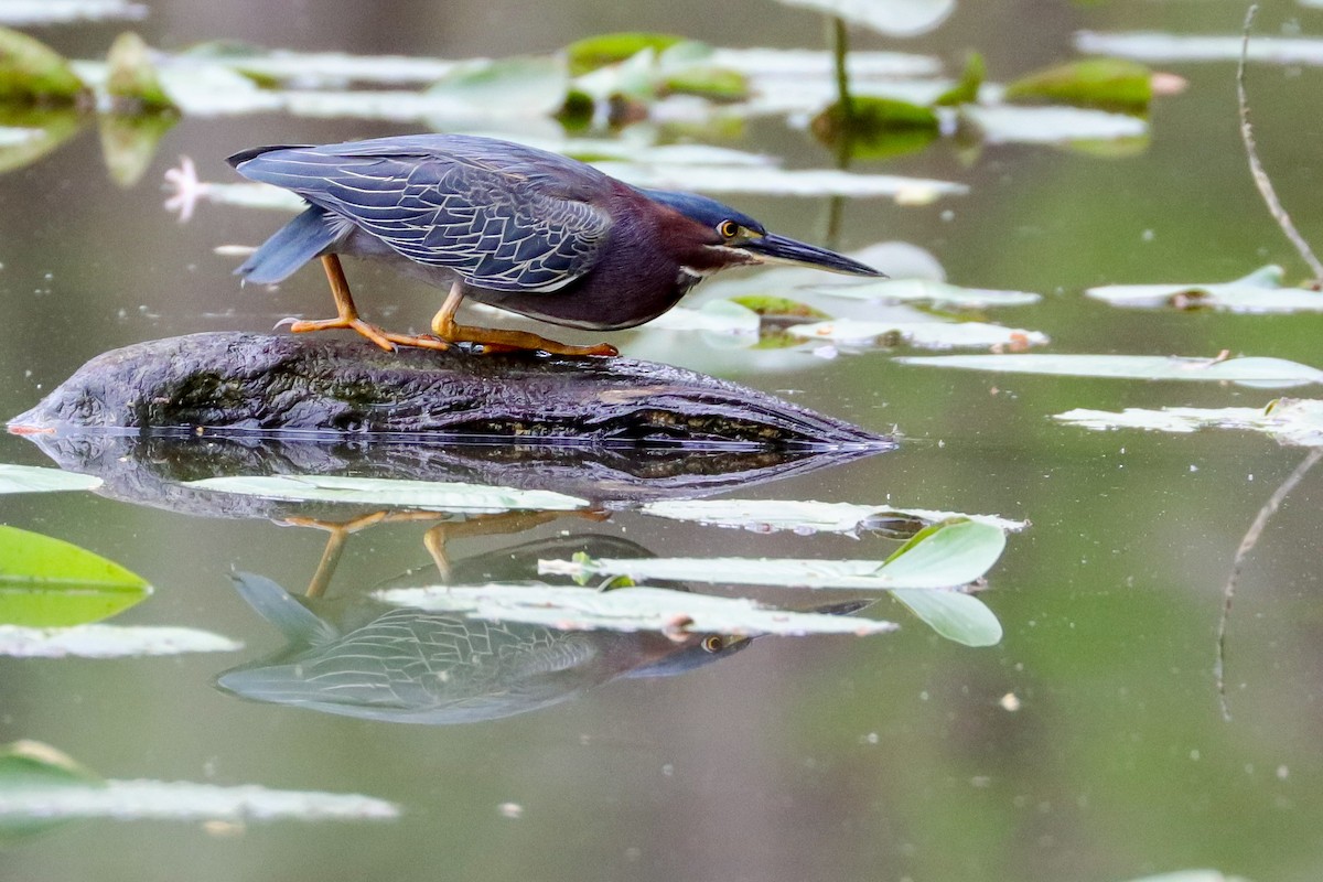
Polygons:
<instances>
[{"instance_id":1,"label":"long pale lily pad lying across the heron's reflection","mask_svg":"<svg viewBox=\"0 0 1323 882\"><path fill-rule=\"evenodd\" d=\"M766 607L747 598L718 598L669 588L611 591L549 584L389 588L376 596L429 612L463 611L480 619L523 621L564 631L658 631L740 636L885 633L890 621Z\"/></svg>"}]
</instances>

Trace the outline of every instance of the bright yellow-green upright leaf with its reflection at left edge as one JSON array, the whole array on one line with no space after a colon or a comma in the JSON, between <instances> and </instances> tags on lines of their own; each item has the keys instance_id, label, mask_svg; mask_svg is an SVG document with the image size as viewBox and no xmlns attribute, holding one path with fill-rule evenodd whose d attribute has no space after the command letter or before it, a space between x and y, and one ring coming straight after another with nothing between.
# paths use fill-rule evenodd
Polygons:
<instances>
[{"instance_id":1,"label":"bright yellow-green upright leaf with its reflection at left edge","mask_svg":"<svg viewBox=\"0 0 1323 882\"><path fill-rule=\"evenodd\" d=\"M58 627L97 621L151 594L142 577L85 549L0 526L0 623Z\"/></svg>"}]
</instances>

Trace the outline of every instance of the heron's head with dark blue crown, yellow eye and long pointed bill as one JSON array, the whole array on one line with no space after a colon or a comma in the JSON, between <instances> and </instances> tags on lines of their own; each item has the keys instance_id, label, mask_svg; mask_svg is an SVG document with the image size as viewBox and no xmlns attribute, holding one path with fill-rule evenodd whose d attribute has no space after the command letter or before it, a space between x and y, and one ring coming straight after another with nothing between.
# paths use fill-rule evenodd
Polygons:
<instances>
[{"instance_id":1,"label":"heron's head with dark blue crown, yellow eye and long pointed bill","mask_svg":"<svg viewBox=\"0 0 1323 882\"><path fill-rule=\"evenodd\" d=\"M848 275L882 275L843 254L767 233L754 218L706 196L673 190L640 192L687 221L663 226L659 247L677 257L681 266L695 275L769 262L795 263Z\"/></svg>"}]
</instances>

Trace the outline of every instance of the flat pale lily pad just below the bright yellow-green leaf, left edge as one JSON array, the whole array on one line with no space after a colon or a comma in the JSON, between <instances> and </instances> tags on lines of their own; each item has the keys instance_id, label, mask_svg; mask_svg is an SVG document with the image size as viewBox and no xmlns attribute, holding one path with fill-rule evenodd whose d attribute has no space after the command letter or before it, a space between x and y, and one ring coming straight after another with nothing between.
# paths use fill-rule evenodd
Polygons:
<instances>
[{"instance_id":1,"label":"flat pale lily pad just below the bright yellow-green leaf, left edge","mask_svg":"<svg viewBox=\"0 0 1323 882\"><path fill-rule=\"evenodd\" d=\"M16 659L138 659L185 652L234 652L243 644L209 631L79 624L25 628L0 624L0 656Z\"/></svg>"}]
</instances>

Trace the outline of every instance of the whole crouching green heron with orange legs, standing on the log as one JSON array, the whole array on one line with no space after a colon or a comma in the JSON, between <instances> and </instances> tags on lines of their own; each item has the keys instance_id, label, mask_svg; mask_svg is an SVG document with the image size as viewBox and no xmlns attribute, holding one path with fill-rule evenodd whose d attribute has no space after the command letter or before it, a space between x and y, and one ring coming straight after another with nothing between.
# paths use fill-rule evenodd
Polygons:
<instances>
[{"instance_id":1,"label":"whole crouching green heron with orange legs, standing on the log","mask_svg":"<svg viewBox=\"0 0 1323 882\"><path fill-rule=\"evenodd\" d=\"M280 282L320 258L337 315L291 331L352 328L377 345L540 349L614 356L521 331L455 323L466 296L572 328L631 328L673 307L704 276L779 261L881 275L826 249L767 233L716 200L630 186L583 163L466 135L410 135L323 147L258 147L229 163L310 206L237 272ZM448 287L431 335L388 333L359 317L340 254L385 259Z\"/></svg>"}]
</instances>

